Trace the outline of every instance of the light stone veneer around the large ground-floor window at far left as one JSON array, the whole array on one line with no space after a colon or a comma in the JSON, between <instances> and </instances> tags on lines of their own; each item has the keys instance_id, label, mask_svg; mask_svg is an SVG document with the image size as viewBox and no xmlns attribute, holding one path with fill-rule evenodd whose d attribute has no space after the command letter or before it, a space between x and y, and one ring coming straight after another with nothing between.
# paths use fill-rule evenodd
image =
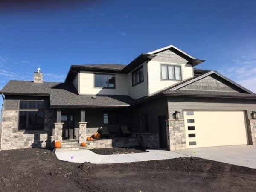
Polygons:
<instances>
[{"instance_id":1,"label":"light stone veneer around the large ground-floor window at far left","mask_svg":"<svg viewBox=\"0 0 256 192\"><path fill-rule=\"evenodd\" d=\"M18 110L2 111L1 150L50 146L51 111L45 111L44 131L19 131Z\"/></svg>"}]
</instances>

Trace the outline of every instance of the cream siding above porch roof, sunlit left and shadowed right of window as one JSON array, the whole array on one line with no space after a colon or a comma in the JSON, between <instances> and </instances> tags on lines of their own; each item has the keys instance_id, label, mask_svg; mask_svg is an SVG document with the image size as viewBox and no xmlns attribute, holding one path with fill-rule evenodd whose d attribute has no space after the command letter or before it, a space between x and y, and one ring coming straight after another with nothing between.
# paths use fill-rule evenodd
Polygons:
<instances>
[{"instance_id":1,"label":"cream siding above porch roof, sunlit left and shadowed right of window","mask_svg":"<svg viewBox=\"0 0 256 192\"><path fill-rule=\"evenodd\" d=\"M94 87L94 73L91 71L80 71L80 94L102 94L102 95L128 95L127 75L116 73L116 88L103 89ZM101 73L101 72L99 72ZM109 73L106 73L109 74ZM113 73L111 73L113 74Z\"/></svg>"}]
</instances>

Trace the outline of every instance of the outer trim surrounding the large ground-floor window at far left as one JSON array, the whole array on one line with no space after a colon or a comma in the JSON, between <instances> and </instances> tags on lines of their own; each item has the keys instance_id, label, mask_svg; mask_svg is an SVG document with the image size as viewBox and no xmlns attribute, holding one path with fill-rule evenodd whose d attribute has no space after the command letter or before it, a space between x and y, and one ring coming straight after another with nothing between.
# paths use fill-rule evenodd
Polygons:
<instances>
[{"instance_id":1,"label":"outer trim surrounding the large ground-floor window at far left","mask_svg":"<svg viewBox=\"0 0 256 192\"><path fill-rule=\"evenodd\" d=\"M33 129L33 130L27 130L27 129L20 129L20 111L43 111L43 127L44 127L44 120L45 120L45 100L38 100L38 99L20 99L18 100L18 122L17 122L17 133L24 133L24 132L44 132L45 129ZM44 102L44 108L43 109L20 109L20 101L42 101Z\"/></svg>"}]
</instances>

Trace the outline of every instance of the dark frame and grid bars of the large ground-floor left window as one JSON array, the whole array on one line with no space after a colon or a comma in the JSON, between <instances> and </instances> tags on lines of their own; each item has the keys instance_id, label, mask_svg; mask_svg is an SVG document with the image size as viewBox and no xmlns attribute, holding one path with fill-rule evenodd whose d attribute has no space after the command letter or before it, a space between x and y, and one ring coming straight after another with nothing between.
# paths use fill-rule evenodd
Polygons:
<instances>
[{"instance_id":1,"label":"dark frame and grid bars of the large ground-floor left window","mask_svg":"<svg viewBox=\"0 0 256 192\"><path fill-rule=\"evenodd\" d=\"M27 108L21 108L21 102L26 101L27 102ZM36 107L34 109L29 109L29 102L35 102ZM38 102L43 102L43 108L38 108ZM23 105L25 106L25 105ZM40 105L41 106L41 105ZM19 110L18 110L18 129L17 131L44 131L44 110L45 110L45 101L44 100L19 100ZM22 129L20 128L20 112L26 112L26 128ZM42 123L42 129L28 129L29 128L29 112L42 112L43 116L43 123ZM36 115L36 114L35 114ZM37 118L35 118L35 124L37 124Z\"/></svg>"}]
</instances>

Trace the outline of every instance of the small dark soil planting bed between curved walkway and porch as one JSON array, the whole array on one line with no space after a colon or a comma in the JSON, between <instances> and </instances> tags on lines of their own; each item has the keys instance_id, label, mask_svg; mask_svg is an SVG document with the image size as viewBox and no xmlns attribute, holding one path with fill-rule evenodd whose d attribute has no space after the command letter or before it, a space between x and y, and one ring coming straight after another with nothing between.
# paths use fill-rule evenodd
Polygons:
<instances>
[{"instance_id":1,"label":"small dark soil planting bed between curved walkway and porch","mask_svg":"<svg viewBox=\"0 0 256 192\"><path fill-rule=\"evenodd\" d=\"M147 148L144 147L128 147L128 148L119 148L119 147L113 147L113 148L96 148L96 149L90 149L90 151L93 151L96 154L101 155L111 155L111 154L127 154L127 153L143 153L148 152L146 151Z\"/></svg>"}]
</instances>

